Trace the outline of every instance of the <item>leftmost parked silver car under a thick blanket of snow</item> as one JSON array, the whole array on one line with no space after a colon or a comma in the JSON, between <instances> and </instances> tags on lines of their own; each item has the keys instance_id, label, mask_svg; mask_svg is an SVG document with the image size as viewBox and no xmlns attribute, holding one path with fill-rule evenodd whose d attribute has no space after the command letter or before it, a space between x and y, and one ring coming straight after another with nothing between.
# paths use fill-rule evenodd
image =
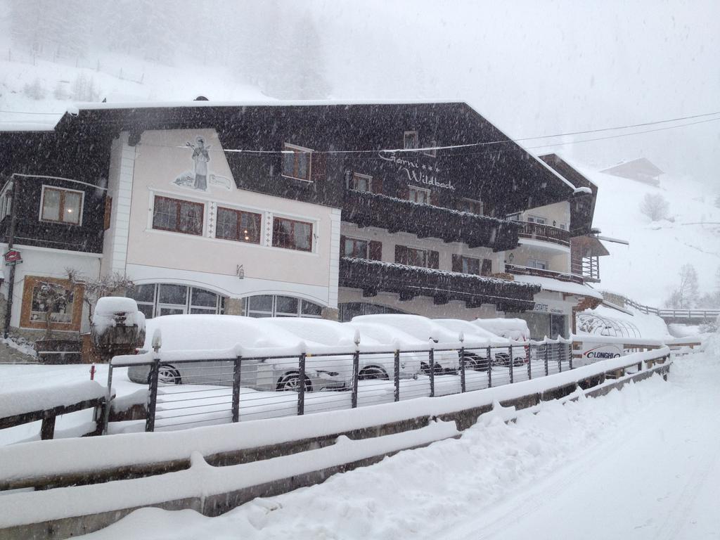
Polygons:
<instances>
[{"instance_id":1,"label":"leftmost parked silver car under a thick blanket of snow","mask_svg":"<svg viewBox=\"0 0 720 540\"><path fill-rule=\"evenodd\" d=\"M164 356L173 351L227 349L236 344L246 347L289 347L304 341L295 334L267 325L263 319L234 315L165 315L146 323L143 350L152 350L156 328L161 330ZM345 356L307 356L305 389L343 389L351 384L352 358ZM130 366L127 376L132 382L148 383L150 366ZM174 362L163 359L159 380L164 384L233 384L233 361ZM300 387L298 356L279 359L245 359L240 369L240 384L255 390L297 390Z\"/></svg>"}]
</instances>

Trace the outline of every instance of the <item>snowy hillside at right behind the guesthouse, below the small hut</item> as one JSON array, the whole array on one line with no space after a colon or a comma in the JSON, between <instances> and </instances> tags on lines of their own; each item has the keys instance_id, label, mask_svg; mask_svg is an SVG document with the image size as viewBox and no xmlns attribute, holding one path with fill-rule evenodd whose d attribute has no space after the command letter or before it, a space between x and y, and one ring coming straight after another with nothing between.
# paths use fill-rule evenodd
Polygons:
<instances>
[{"instance_id":1,"label":"snowy hillside at right behind the guesthouse, below the small hut","mask_svg":"<svg viewBox=\"0 0 720 540\"><path fill-rule=\"evenodd\" d=\"M578 170L598 184L595 227L603 236L630 243L605 243L611 254L600 258L598 289L662 307L678 287L680 267L692 264L700 295L714 290L720 267L720 209L714 206L716 194L708 192L707 186L662 175L660 187L654 187L582 166ZM648 193L667 199L670 220L651 222L640 212Z\"/></svg>"}]
</instances>

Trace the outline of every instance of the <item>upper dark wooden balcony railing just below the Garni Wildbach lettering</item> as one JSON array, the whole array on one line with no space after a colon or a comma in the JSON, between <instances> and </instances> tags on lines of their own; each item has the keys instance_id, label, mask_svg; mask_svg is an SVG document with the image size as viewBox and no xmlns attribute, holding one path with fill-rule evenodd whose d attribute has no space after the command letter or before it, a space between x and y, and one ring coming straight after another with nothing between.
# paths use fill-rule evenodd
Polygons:
<instances>
[{"instance_id":1,"label":"upper dark wooden balcony railing just below the Garni Wildbach lettering","mask_svg":"<svg viewBox=\"0 0 720 540\"><path fill-rule=\"evenodd\" d=\"M518 246L516 222L374 193L346 191L343 221L387 229L389 233L402 231L418 238L463 242L470 248L485 246L505 251Z\"/></svg>"}]
</instances>

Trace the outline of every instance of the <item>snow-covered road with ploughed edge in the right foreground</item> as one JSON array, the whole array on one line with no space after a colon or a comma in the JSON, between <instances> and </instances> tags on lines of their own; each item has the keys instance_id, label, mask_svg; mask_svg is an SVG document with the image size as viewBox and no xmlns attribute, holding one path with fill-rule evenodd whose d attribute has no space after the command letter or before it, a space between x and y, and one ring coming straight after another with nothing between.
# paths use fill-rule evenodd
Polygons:
<instances>
[{"instance_id":1,"label":"snow-covered road with ploughed edge in the right foreground","mask_svg":"<svg viewBox=\"0 0 720 540\"><path fill-rule=\"evenodd\" d=\"M720 530L720 340L597 399L547 402L223 516L136 510L89 539L657 539Z\"/></svg>"}]
</instances>

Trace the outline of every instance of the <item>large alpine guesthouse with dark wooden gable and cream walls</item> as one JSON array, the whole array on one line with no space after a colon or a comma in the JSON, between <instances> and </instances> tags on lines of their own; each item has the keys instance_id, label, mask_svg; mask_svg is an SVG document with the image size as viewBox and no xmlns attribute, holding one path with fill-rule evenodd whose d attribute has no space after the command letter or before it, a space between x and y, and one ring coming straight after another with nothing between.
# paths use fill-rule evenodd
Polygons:
<instances>
[{"instance_id":1,"label":"large alpine guesthouse with dark wooden gable and cream walls","mask_svg":"<svg viewBox=\"0 0 720 540\"><path fill-rule=\"evenodd\" d=\"M518 271L570 275L565 237L590 233L592 186L464 103L94 104L52 131L1 133L0 175L1 241L24 260L13 328L44 325L35 284L66 268L129 277L148 317L473 319L558 294L569 315L568 295L596 294L580 276ZM546 298L536 278L575 288ZM53 329L86 327L81 294Z\"/></svg>"}]
</instances>

